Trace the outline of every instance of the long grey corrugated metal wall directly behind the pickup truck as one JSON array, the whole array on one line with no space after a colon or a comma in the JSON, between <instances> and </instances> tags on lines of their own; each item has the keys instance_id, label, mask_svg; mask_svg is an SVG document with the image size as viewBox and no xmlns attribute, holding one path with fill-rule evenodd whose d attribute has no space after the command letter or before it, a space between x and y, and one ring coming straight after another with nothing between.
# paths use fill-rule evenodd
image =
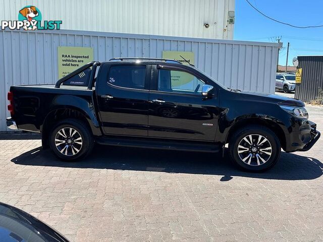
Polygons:
<instances>
[{"instance_id":1,"label":"long grey corrugated metal wall directly behind the pickup truck","mask_svg":"<svg viewBox=\"0 0 323 242\"><path fill-rule=\"evenodd\" d=\"M0 31L0 131L6 130L11 85L58 80L58 46L93 47L94 59L162 57L163 50L193 51L195 66L227 87L274 93L278 43L136 34Z\"/></svg>"}]
</instances>

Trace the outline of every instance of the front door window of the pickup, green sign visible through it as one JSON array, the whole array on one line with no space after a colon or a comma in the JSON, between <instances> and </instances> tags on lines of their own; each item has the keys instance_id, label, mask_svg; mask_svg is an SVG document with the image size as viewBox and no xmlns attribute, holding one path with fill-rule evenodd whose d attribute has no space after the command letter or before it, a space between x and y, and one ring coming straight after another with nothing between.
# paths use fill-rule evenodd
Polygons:
<instances>
[{"instance_id":1,"label":"front door window of the pickup, green sign visible through it","mask_svg":"<svg viewBox=\"0 0 323 242\"><path fill-rule=\"evenodd\" d=\"M158 91L201 93L203 84L202 80L187 72L165 69L158 71Z\"/></svg>"}]
</instances>

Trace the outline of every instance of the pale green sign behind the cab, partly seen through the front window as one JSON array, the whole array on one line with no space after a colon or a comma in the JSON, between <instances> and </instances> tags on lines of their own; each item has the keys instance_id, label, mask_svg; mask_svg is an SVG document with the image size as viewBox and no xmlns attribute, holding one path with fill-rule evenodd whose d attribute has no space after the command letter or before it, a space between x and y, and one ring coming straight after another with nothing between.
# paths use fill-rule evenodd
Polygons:
<instances>
[{"instance_id":1,"label":"pale green sign behind the cab, partly seen through the front window","mask_svg":"<svg viewBox=\"0 0 323 242\"><path fill-rule=\"evenodd\" d=\"M184 65L194 65L194 53L189 51L163 51L163 58L174 59ZM172 88L178 88L192 82L194 76L185 72L171 71L171 79Z\"/></svg>"}]
</instances>

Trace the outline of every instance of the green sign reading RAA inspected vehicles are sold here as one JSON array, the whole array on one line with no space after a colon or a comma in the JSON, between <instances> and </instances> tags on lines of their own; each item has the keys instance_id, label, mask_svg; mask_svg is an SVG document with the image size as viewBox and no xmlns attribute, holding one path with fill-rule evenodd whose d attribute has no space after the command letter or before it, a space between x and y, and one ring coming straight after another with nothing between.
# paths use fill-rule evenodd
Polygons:
<instances>
[{"instance_id":1,"label":"green sign reading RAA inspected vehicles are sold here","mask_svg":"<svg viewBox=\"0 0 323 242\"><path fill-rule=\"evenodd\" d=\"M93 61L93 48L59 46L59 79Z\"/></svg>"}]
</instances>

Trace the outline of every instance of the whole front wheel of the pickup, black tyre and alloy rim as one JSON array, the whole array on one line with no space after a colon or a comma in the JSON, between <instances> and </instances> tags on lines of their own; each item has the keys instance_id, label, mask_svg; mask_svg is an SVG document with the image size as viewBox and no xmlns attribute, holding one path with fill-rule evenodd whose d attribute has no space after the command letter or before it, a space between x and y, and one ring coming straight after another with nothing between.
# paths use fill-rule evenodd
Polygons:
<instances>
[{"instance_id":1,"label":"whole front wheel of the pickup, black tyre and alloy rim","mask_svg":"<svg viewBox=\"0 0 323 242\"><path fill-rule=\"evenodd\" d=\"M229 142L230 158L239 168L260 172L272 168L279 160L281 144L270 129L247 126L237 130Z\"/></svg>"}]
</instances>

